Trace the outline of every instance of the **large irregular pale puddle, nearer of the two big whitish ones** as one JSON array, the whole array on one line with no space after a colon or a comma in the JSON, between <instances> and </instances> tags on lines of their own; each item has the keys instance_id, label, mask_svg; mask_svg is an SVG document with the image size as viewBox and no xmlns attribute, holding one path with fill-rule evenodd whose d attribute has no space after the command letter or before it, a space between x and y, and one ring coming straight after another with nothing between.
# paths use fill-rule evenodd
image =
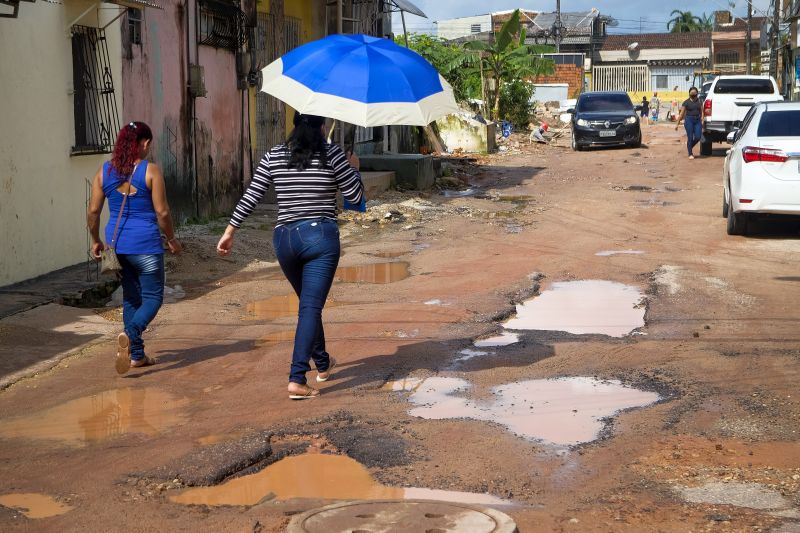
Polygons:
<instances>
[{"instance_id":1,"label":"large irregular pale puddle, nearer of the two big whitish ones","mask_svg":"<svg viewBox=\"0 0 800 533\"><path fill-rule=\"evenodd\" d=\"M609 417L659 400L619 381L588 377L537 379L499 385L491 389L493 401L473 401L463 396L471 387L459 378L426 379L409 397L417 405L412 416L429 420L471 418L506 426L520 437L557 446L572 446L597 439Z\"/></svg>"}]
</instances>

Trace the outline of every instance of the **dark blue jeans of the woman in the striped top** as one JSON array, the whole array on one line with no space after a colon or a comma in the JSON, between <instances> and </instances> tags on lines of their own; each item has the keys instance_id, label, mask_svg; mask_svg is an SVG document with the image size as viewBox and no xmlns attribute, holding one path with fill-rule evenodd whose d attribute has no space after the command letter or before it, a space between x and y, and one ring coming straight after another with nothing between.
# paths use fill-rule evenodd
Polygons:
<instances>
[{"instance_id":1,"label":"dark blue jeans of the woman in the striped top","mask_svg":"<svg viewBox=\"0 0 800 533\"><path fill-rule=\"evenodd\" d=\"M304 385L311 359L319 372L330 365L322 308L339 265L339 227L329 218L300 220L275 228L272 244L281 270L300 299L289 381Z\"/></svg>"}]
</instances>

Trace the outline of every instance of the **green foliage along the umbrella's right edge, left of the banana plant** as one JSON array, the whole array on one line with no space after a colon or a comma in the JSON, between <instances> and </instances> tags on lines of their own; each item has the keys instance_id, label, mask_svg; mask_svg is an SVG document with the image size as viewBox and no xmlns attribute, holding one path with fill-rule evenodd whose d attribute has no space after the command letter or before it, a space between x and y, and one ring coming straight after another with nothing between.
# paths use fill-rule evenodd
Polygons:
<instances>
[{"instance_id":1,"label":"green foliage along the umbrella's right edge, left of the banana plant","mask_svg":"<svg viewBox=\"0 0 800 533\"><path fill-rule=\"evenodd\" d=\"M405 46L403 36L395 37L395 42ZM453 87L456 100L463 102L470 98L478 98L481 94L480 74L466 67L470 57L457 44L424 33L412 33L408 36L408 47L428 60L433 68Z\"/></svg>"}]
</instances>

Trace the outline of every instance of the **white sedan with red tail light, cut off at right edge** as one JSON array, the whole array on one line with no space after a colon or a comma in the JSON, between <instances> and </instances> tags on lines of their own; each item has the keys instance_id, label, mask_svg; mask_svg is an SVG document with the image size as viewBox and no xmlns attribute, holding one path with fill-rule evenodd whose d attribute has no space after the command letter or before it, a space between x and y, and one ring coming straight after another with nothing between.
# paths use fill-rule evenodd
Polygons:
<instances>
[{"instance_id":1,"label":"white sedan with red tail light, cut off at right edge","mask_svg":"<svg viewBox=\"0 0 800 533\"><path fill-rule=\"evenodd\" d=\"M722 216L746 235L755 213L800 215L800 102L761 102L728 135Z\"/></svg>"}]
</instances>

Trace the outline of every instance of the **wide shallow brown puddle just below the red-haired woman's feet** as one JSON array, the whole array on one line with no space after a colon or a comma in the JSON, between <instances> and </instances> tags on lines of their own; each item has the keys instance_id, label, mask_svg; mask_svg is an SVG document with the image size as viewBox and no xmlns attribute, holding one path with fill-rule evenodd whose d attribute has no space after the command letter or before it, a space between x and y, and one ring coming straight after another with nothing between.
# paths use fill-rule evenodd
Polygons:
<instances>
[{"instance_id":1,"label":"wide shallow brown puddle just below the red-haired woman's feet","mask_svg":"<svg viewBox=\"0 0 800 533\"><path fill-rule=\"evenodd\" d=\"M158 389L115 389L0 421L0 436L81 446L129 433L155 435L184 421L185 404Z\"/></svg>"}]
</instances>

